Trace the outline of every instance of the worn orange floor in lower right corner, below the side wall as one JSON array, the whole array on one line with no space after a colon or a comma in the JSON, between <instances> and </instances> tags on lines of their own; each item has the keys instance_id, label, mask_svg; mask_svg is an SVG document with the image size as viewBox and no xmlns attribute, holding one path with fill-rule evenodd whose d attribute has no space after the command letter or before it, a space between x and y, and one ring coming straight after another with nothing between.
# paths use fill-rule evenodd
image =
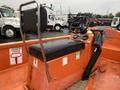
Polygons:
<instances>
[{"instance_id":1,"label":"worn orange floor in lower right corner, below the side wall","mask_svg":"<svg viewBox=\"0 0 120 90\"><path fill-rule=\"evenodd\" d=\"M101 59L99 69L90 76L85 90L120 90L120 62Z\"/></svg>"}]
</instances>

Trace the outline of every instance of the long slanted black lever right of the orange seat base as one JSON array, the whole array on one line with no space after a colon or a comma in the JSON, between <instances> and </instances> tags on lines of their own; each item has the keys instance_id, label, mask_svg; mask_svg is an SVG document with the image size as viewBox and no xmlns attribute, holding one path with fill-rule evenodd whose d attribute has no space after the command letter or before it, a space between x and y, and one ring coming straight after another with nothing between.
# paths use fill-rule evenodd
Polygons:
<instances>
[{"instance_id":1,"label":"long slanted black lever right of the orange seat base","mask_svg":"<svg viewBox=\"0 0 120 90\"><path fill-rule=\"evenodd\" d=\"M89 60L89 63L84 71L83 74L83 80L87 80L91 74L91 71L93 67L95 66L101 51L102 51L102 43L103 43L103 38L104 38L104 31L103 30L93 30L93 32L96 32L96 36L94 37L94 50L93 54Z\"/></svg>"}]
</instances>

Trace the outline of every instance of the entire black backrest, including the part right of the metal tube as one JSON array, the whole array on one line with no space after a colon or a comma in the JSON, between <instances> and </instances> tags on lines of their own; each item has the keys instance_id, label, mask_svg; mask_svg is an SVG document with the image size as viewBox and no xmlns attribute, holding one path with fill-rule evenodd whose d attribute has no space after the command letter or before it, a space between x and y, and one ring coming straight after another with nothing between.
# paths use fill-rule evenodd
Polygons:
<instances>
[{"instance_id":1,"label":"entire black backrest, including the part right of the metal tube","mask_svg":"<svg viewBox=\"0 0 120 90\"><path fill-rule=\"evenodd\" d=\"M38 32L38 16L37 8L24 10L21 12L21 23L23 32ZM47 11L44 7L40 7L40 31L47 28Z\"/></svg>"}]
</instances>

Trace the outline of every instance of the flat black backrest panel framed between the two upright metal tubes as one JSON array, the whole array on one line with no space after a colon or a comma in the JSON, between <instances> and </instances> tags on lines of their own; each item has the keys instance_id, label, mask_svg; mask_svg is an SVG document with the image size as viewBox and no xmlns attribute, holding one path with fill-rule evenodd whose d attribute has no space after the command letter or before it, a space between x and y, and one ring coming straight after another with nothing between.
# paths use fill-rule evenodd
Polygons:
<instances>
[{"instance_id":1,"label":"flat black backrest panel framed between the two upright metal tubes","mask_svg":"<svg viewBox=\"0 0 120 90\"><path fill-rule=\"evenodd\" d=\"M23 32L37 32L37 8L22 11Z\"/></svg>"}]
</instances>

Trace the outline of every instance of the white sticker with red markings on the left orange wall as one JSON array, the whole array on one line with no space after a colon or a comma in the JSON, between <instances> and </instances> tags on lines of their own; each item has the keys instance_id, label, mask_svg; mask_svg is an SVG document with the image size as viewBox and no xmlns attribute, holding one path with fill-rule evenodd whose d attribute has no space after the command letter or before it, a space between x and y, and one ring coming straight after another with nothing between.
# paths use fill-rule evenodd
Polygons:
<instances>
[{"instance_id":1,"label":"white sticker with red markings on the left orange wall","mask_svg":"<svg viewBox=\"0 0 120 90\"><path fill-rule=\"evenodd\" d=\"M22 48L9 49L10 65L21 64L22 61Z\"/></svg>"}]
</instances>

